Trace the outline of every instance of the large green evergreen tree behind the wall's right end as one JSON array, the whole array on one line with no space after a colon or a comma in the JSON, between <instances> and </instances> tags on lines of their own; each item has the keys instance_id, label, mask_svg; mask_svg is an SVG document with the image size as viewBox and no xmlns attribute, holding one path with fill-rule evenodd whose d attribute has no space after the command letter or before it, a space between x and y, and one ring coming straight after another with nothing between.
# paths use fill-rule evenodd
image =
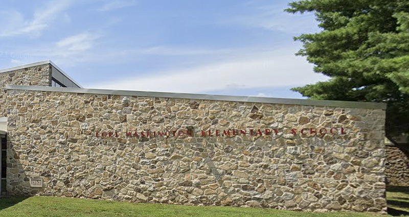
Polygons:
<instances>
[{"instance_id":1,"label":"large green evergreen tree behind the wall's right end","mask_svg":"<svg viewBox=\"0 0 409 217\"><path fill-rule=\"evenodd\" d=\"M297 55L330 79L292 90L312 99L388 103L387 134L409 132L409 1L302 0L322 31L302 34Z\"/></svg>"}]
</instances>

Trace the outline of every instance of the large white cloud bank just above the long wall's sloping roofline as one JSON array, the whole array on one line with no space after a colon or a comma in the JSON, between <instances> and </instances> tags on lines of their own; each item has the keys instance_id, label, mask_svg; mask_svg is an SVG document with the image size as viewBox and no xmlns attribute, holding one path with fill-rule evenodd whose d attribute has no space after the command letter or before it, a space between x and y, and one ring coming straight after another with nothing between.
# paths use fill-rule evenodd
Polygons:
<instances>
[{"instance_id":1,"label":"large white cloud bank just above the long wall's sloping roofline","mask_svg":"<svg viewBox=\"0 0 409 217\"><path fill-rule=\"evenodd\" d=\"M230 89L299 86L325 80L292 50L250 53L228 61L189 69L155 71L89 85L92 88L166 92L210 92Z\"/></svg>"}]
</instances>

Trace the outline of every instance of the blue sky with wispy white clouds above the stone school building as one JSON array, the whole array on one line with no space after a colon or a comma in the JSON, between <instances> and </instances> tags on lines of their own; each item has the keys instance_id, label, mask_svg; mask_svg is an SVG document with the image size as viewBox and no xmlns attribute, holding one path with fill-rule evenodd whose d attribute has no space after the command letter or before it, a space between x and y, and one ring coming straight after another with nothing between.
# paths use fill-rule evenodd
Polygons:
<instances>
[{"instance_id":1,"label":"blue sky with wispy white clouds above the stone school building","mask_svg":"<svg viewBox=\"0 0 409 217\"><path fill-rule=\"evenodd\" d=\"M0 68L50 59L85 88L301 98L320 31L289 1L3 0Z\"/></svg>"}]
</instances>

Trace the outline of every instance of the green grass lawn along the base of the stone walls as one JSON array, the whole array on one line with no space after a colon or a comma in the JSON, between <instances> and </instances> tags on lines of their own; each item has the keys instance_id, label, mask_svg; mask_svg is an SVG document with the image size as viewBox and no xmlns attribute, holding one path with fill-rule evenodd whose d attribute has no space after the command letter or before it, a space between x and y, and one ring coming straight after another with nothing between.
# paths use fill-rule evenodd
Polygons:
<instances>
[{"instance_id":1,"label":"green grass lawn along the base of the stone walls","mask_svg":"<svg viewBox=\"0 0 409 217\"><path fill-rule=\"evenodd\" d=\"M409 216L409 188L388 189L389 212L391 215ZM292 217L337 217L337 216L380 216L372 213L311 213L276 209L182 206L166 204L134 204L92 199L30 197L0 199L0 216L292 216ZM388 215L382 215L388 216Z\"/></svg>"}]
</instances>

